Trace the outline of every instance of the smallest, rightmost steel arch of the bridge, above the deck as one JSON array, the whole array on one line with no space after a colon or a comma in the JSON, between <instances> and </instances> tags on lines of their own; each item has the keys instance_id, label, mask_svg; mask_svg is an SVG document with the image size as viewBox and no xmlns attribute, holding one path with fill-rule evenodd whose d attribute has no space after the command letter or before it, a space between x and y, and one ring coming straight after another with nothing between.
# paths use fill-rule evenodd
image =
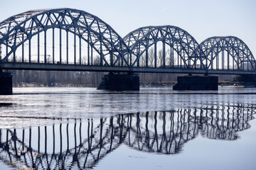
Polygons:
<instances>
[{"instance_id":1,"label":"smallest, rightmost steel arch of the bridge, above the deck","mask_svg":"<svg viewBox=\"0 0 256 170\"><path fill-rule=\"evenodd\" d=\"M206 64L207 69L256 70L252 52L239 38L233 36L212 37L201 42L200 47L203 64Z\"/></svg>"}]
</instances>

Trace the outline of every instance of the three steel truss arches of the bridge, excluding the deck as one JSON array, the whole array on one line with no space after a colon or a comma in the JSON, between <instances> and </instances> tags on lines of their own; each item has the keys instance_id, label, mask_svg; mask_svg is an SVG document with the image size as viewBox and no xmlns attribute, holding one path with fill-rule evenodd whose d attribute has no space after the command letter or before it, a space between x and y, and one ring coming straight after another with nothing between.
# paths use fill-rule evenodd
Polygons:
<instances>
[{"instance_id":1,"label":"three steel truss arches of the bridge, excluding the deck","mask_svg":"<svg viewBox=\"0 0 256 170\"><path fill-rule=\"evenodd\" d=\"M223 52L227 52L230 57L228 57L227 61L222 59L225 62L222 65L222 69L224 65L228 65L228 70L256 71L256 62L252 52L245 42L242 42L239 38L233 36L212 37L204 40L199 45L186 30L176 26L146 26L138 28L121 38L111 26L97 18L97 16L72 8L26 11L2 21L0 23L0 62L21 62L21 60L16 60L15 57L17 48L23 47L26 42L29 43L30 47L31 39L38 35L38 63L42 63L39 62L39 34L42 32L46 34L50 29L53 32L54 30L65 30L67 34L71 33L78 37L80 41L87 42L88 65L203 69L207 72L208 70L218 69L220 53L223 55ZM61 62L61 51L63 50L61 50L61 38L59 42L60 63L54 60L53 52L52 64L72 64L68 62L68 47L66 50L67 61L66 63ZM161 45L161 43L162 52L158 53L159 47L157 45ZM44 44L46 49L46 36ZM76 44L74 45L75 47ZM53 47L53 51L55 48L57 47ZM79 48L81 64L81 44ZM152 63L149 66L149 49L154 50L154 66L152 66ZM96 55L92 55L92 50ZM44 62L47 64L46 55L48 54L46 54L46 50L44 51ZM27 53L29 61L22 59L22 62L30 63L30 48ZM77 62L76 55L75 53L74 63ZM166 55L168 55L168 58ZM100 62L92 63L92 61L97 60L97 57L100 58ZM176 61L174 61L174 57ZM156 61L156 58L158 61ZM215 62L217 66L214 68L213 61L215 60L217 60ZM144 65L141 65L140 61L144 62ZM230 68L231 64L228 62L233 63L232 69Z\"/></svg>"}]
</instances>

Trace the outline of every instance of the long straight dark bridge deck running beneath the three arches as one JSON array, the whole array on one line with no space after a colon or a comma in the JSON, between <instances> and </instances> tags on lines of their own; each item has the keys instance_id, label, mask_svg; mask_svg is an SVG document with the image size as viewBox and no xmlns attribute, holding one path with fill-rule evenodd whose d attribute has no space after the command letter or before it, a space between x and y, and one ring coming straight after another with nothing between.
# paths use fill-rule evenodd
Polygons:
<instances>
[{"instance_id":1,"label":"long straight dark bridge deck running beneath the three arches","mask_svg":"<svg viewBox=\"0 0 256 170\"><path fill-rule=\"evenodd\" d=\"M75 72L148 72L148 73L178 73L178 74L206 74L205 69L181 69L181 68L152 68L152 67L107 67L79 64L42 64L24 62L0 63L2 69L23 70L52 70L52 71L75 71ZM235 70L208 70L208 74L256 74L256 72L245 72Z\"/></svg>"}]
</instances>

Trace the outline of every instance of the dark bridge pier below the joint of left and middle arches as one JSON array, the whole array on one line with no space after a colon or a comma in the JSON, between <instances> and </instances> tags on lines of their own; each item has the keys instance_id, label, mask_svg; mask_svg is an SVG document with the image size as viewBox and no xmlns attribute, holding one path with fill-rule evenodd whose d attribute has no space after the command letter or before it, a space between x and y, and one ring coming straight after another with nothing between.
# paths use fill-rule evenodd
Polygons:
<instances>
[{"instance_id":1,"label":"dark bridge pier below the joint of left and middle arches","mask_svg":"<svg viewBox=\"0 0 256 170\"><path fill-rule=\"evenodd\" d=\"M139 91L139 76L136 74L105 74L97 90Z\"/></svg>"}]
</instances>

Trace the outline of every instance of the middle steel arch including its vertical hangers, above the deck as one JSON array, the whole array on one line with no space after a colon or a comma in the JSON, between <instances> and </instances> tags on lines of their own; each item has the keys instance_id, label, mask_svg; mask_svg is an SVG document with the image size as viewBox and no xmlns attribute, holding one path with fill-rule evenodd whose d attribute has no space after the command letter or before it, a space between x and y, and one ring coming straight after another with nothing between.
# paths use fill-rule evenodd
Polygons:
<instances>
[{"instance_id":1,"label":"middle steel arch including its vertical hangers, above the deck","mask_svg":"<svg viewBox=\"0 0 256 170\"><path fill-rule=\"evenodd\" d=\"M131 53L135 55L136 59L131 61L130 64L139 66L139 60L142 59L142 55L145 53L145 67L149 65L149 48L154 45L154 66L156 63L157 42L162 42L162 56L159 67L177 67L190 69L195 67L196 64L201 64L201 58L196 54L196 48L198 48L198 42L191 36L186 30L178 28L176 26L148 26L139 28L132 31L124 37L124 42L129 46ZM166 47L170 47L170 51L166 52ZM176 64L174 61L174 52L178 55ZM170 53L171 60L170 65L166 64L166 55ZM199 63L197 62L199 59Z\"/></svg>"}]
</instances>

